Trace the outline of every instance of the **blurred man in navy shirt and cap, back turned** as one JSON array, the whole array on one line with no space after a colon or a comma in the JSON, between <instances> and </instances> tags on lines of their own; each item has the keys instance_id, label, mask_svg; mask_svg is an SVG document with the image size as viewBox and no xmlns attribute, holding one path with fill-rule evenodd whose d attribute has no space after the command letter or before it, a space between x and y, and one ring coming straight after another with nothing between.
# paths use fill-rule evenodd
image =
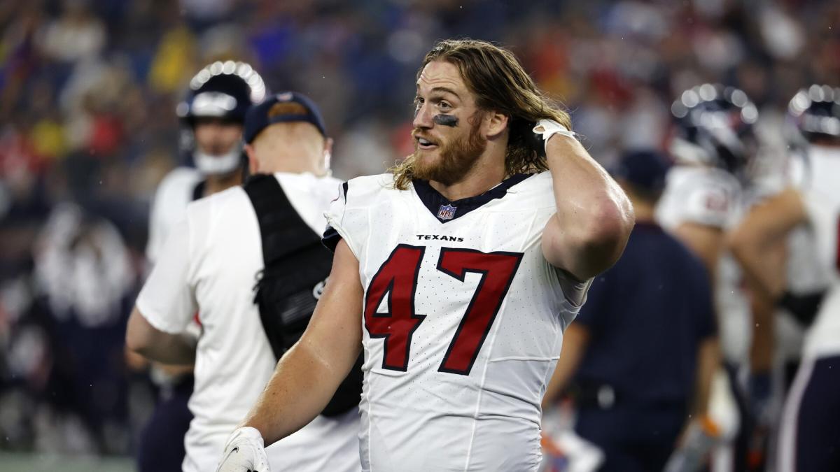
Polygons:
<instances>
[{"instance_id":1,"label":"blurred man in navy shirt and cap, back turned","mask_svg":"<svg viewBox=\"0 0 840 472\"><path fill-rule=\"evenodd\" d=\"M613 175L636 227L566 329L543 398L548 409L568 387L575 432L601 448L601 471L662 470L687 423L704 421L717 369L706 267L654 221L668 167L654 150L622 155Z\"/></svg>"}]
</instances>

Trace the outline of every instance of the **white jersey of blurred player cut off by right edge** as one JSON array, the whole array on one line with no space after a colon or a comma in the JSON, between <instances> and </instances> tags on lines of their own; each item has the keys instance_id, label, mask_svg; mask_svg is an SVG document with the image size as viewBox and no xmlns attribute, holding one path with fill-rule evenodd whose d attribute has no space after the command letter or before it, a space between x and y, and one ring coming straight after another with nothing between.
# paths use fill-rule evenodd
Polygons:
<instances>
[{"instance_id":1,"label":"white jersey of blurred player cut off by right edge","mask_svg":"<svg viewBox=\"0 0 840 472\"><path fill-rule=\"evenodd\" d=\"M806 358L840 354L840 149L811 146L801 193L811 220L818 268L829 289L806 333Z\"/></svg>"}]
</instances>

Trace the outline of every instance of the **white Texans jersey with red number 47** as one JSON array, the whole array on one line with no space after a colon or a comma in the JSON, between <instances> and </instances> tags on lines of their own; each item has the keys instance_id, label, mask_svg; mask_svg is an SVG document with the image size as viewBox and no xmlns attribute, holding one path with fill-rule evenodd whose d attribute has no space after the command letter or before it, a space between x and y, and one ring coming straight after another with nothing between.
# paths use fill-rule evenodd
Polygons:
<instances>
[{"instance_id":1,"label":"white Texans jersey with red number 47","mask_svg":"<svg viewBox=\"0 0 840 472\"><path fill-rule=\"evenodd\" d=\"M349 181L325 236L349 245L365 287L362 468L535 470L540 402L588 287L543 258L551 176L451 203L392 181Z\"/></svg>"}]
</instances>

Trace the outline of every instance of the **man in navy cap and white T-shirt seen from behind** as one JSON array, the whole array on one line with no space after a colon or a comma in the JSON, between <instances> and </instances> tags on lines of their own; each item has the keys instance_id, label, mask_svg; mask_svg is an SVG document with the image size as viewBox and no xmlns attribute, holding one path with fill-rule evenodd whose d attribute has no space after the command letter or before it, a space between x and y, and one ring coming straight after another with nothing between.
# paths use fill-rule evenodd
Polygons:
<instances>
[{"instance_id":1,"label":"man in navy cap and white T-shirt seen from behind","mask_svg":"<svg viewBox=\"0 0 840 472\"><path fill-rule=\"evenodd\" d=\"M234 186L187 207L186 219L171 231L140 292L126 334L129 348L150 359L169 364L195 360L195 391L189 403L195 419L186 433L183 462L187 472L215 469L225 438L263 390L276 364L254 302L255 281L268 269L263 254L270 242L262 239L262 227L281 223L286 230L311 233L318 248L328 253L318 233L326 227L324 210L340 184L329 176L327 166L332 139L307 97L286 92L251 108L245 133L249 170L269 176L254 176L244 188ZM259 218L255 202L249 199L249 188L257 179L279 182L289 202L284 208L302 220L301 228L291 226L291 219ZM311 262L306 257L297 261L300 273ZM312 299L315 284L306 288L305 295ZM310 303L308 299L290 301L289 307ZM186 333L195 312L202 320L197 345ZM358 431L356 407L339 416L318 416L268 449L273 469L358 470Z\"/></svg>"}]
</instances>

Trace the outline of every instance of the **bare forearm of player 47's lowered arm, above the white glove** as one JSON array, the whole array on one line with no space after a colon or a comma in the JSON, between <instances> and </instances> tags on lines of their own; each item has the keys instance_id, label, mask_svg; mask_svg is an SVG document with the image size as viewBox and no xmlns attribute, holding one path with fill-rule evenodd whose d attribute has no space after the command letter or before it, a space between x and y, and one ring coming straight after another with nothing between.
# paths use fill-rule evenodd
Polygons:
<instances>
[{"instance_id":1,"label":"bare forearm of player 47's lowered arm, above the white glove","mask_svg":"<svg viewBox=\"0 0 840 472\"><path fill-rule=\"evenodd\" d=\"M358 351L355 356L358 356ZM350 358L350 365L355 357ZM255 427L267 447L307 425L323 411L349 367L334 365L318 354L318 348L301 342L277 363L265 390L251 408L242 426Z\"/></svg>"}]
</instances>

